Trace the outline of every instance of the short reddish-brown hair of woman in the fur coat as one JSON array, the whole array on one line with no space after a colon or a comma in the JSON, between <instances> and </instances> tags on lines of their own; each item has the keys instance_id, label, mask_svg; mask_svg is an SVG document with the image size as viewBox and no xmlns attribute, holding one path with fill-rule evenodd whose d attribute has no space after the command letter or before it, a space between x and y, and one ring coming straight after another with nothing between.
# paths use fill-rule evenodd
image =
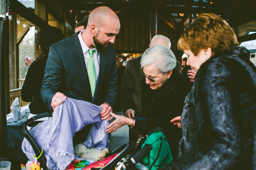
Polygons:
<instances>
[{"instance_id":1,"label":"short reddish-brown hair of woman in the fur coat","mask_svg":"<svg viewBox=\"0 0 256 170\"><path fill-rule=\"evenodd\" d=\"M221 17L213 13L202 13L181 34L178 50L191 50L196 56L202 49L210 47L213 53L238 46L233 29Z\"/></svg>"}]
</instances>

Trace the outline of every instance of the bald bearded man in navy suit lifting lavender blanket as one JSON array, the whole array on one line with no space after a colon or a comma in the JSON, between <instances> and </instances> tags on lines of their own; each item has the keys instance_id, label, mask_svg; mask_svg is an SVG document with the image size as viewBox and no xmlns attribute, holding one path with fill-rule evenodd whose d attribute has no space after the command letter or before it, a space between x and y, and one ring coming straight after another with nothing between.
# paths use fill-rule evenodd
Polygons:
<instances>
[{"instance_id":1,"label":"bald bearded man in navy suit lifting lavender blanket","mask_svg":"<svg viewBox=\"0 0 256 170\"><path fill-rule=\"evenodd\" d=\"M110 120L118 90L116 52L111 44L119 29L116 13L97 7L85 30L50 46L41 96L51 111L70 97L103 107L100 117ZM62 100L56 102L58 97ZM85 133L80 141L73 138L74 145L84 142L83 137Z\"/></svg>"}]
</instances>

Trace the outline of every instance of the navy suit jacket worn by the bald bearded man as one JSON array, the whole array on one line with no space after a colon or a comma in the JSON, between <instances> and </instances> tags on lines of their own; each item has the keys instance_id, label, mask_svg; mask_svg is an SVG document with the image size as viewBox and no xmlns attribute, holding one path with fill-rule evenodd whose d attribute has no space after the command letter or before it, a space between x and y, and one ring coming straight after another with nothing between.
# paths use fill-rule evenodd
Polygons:
<instances>
[{"instance_id":1,"label":"navy suit jacket worn by the bald bearded man","mask_svg":"<svg viewBox=\"0 0 256 170\"><path fill-rule=\"evenodd\" d=\"M118 90L114 47L109 45L105 52L100 52L100 70L92 98L78 34L79 32L50 46L41 97L49 108L51 108L50 104L56 92L96 105L106 102L113 107Z\"/></svg>"}]
</instances>

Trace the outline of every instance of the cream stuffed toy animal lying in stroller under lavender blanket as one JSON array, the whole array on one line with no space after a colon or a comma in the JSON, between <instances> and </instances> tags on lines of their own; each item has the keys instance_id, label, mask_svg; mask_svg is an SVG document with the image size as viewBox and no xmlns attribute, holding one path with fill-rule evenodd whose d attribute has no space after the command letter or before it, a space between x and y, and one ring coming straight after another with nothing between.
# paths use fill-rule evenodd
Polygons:
<instances>
[{"instance_id":1,"label":"cream stuffed toy animal lying in stroller under lavender blanket","mask_svg":"<svg viewBox=\"0 0 256 170\"><path fill-rule=\"evenodd\" d=\"M86 148L84 144L80 143L75 146L75 155L80 155L80 158L99 160L106 157L106 154L109 153L108 148L96 149L96 148Z\"/></svg>"}]
</instances>

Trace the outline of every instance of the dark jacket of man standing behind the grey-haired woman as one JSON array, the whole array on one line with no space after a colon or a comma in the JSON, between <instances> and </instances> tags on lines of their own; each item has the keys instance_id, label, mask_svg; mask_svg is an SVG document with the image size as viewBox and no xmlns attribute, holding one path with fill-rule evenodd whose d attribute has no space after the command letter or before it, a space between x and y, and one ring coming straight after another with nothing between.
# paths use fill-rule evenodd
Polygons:
<instances>
[{"instance_id":1,"label":"dark jacket of man standing behind the grey-haired woman","mask_svg":"<svg viewBox=\"0 0 256 170\"><path fill-rule=\"evenodd\" d=\"M127 62L127 68L124 72L119 95L123 112L127 109L133 109L135 116L140 117L141 114L141 89L142 74L140 73L140 60L142 56L138 56ZM181 72L181 63L177 61L175 69Z\"/></svg>"}]
</instances>

